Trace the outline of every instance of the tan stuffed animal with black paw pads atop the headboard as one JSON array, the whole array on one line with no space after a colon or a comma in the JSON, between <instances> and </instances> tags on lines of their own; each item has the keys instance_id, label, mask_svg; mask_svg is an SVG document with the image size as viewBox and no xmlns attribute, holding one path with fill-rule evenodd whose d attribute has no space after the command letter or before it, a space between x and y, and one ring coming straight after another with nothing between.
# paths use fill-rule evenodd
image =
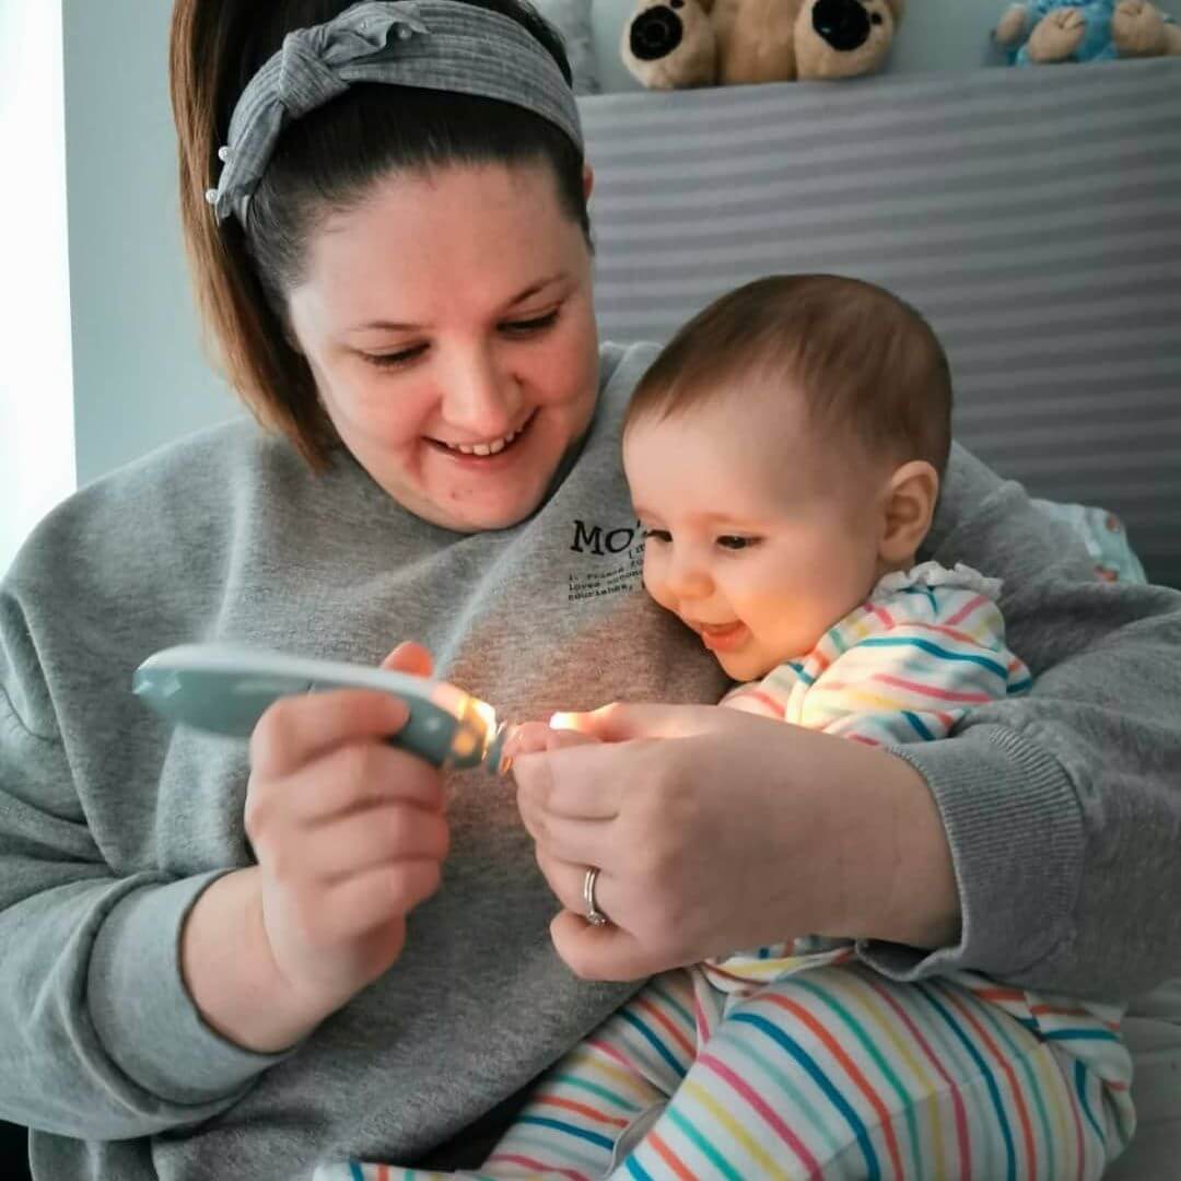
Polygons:
<instances>
[{"instance_id":1,"label":"tan stuffed animal with black paw pads atop the headboard","mask_svg":"<svg viewBox=\"0 0 1181 1181\"><path fill-rule=\"evenodd\" d=\"M624 65L650 90L852 78L881 67L905 0L639 0Z\"/></svg>"}]
</instances>

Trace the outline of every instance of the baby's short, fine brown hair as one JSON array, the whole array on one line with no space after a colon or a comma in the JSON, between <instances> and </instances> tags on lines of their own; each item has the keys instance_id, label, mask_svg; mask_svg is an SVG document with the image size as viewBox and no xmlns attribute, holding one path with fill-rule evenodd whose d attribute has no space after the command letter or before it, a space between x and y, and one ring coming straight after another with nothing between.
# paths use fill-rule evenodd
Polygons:
<instances>
[{"instance_id":1,"label":"baby's short, fine brown hair","mask_svg":"<svg viewBox=\"0 0 1181 1181\"><path fill-rule=\"evenodd\" d=\"M951 448L951 367L927 321L857 279L771 275L723 295L681 327L640 379L624 418L665 418L791 383L810 425L870 455L926 459Z\"/></svg>"}]
</instances>

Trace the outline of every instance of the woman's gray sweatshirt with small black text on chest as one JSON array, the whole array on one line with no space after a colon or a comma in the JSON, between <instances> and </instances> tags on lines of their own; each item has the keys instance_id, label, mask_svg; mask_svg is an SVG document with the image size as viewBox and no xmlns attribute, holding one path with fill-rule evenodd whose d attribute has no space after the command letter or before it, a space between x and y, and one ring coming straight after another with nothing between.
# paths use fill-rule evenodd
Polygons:
<instances>
[{"instance_id":1,"label":"woman's gray sweatshirt with small black text on chest","mask_svg":"<svg viewBox=\"0 0 1181 1181\"><path fill-rule=\"evenodd\" d=\"M0 1117L52 1181L302 1175L406 1161L476 1120L632 991L576 980L513 787L450 783L454 852L402 959L279 1056L217 1036L178 934L250 863L244 742L170 730L130 692L157 648L240 641L441 674L544 718L613 698L716 702L713 658L640 586L619 417L650 348L607 346L595 422L527 521L461 535L345 452L313 477L253 424L81 490L0 585ZM1005 580L1037 685L900 752L950 834L958 946L867 944L900 978L957 966L1078 996L1181 974L1181 594L1097 582L1081 543L963 450L924 556ZM1129 921L1135 918L1135 922Z\"/></svg>"}]
</instances>

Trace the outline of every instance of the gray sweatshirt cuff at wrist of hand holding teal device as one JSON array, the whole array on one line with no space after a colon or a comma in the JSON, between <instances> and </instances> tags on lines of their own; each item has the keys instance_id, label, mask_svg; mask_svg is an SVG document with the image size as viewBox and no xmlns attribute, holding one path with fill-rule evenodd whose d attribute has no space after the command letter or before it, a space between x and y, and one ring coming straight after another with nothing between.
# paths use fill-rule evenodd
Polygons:
<instances>
[{"instance_id":1,"label":"gray sweatshirt cuff at wrist of hand holding teal device","mask_svg":"<svg viewBox=\"0 0 1181 1181\"><path fill-rule=\"evenodd\" d=\"M181 976L181 929L228 870L150 886L106 916L91 954L89 1010L119 1069L158 1098L197 1105L242 1090L278 1055L244 1050L205 1024Z\"/></svg>"}]
</instances>

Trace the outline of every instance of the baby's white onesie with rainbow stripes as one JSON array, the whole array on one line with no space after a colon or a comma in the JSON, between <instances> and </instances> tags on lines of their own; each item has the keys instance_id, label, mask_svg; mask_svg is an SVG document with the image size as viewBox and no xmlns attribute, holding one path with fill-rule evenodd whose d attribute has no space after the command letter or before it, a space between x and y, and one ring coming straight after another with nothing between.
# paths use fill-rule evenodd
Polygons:
<instances>
[{"instance_id":1,"label":"baby's white onesie with rainbow stripes","mask_svg":"<svg viewBox=\"0 0 1181 1181\"><path fill-rule=\"evenodd\" d=\"M999 583L886 575L816 648L723 704L873 745L1024 692ZM651 980L539 1084L468 1177L1084 1181L1135 1128L1122 1010L971 972L899 984L810 937ZM387 1164L315 1181L425 1181Z\"/></svg>"}]
</instances>

